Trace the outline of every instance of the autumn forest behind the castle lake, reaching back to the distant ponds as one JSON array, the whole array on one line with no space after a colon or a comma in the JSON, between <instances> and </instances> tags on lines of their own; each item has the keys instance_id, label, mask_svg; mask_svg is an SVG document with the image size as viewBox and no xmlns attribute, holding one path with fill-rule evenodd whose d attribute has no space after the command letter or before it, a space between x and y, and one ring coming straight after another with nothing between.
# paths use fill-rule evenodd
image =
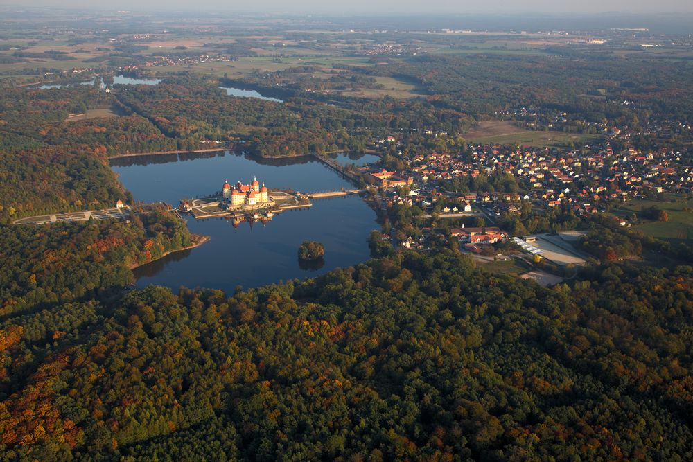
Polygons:
<instances>
[{"instance_id":1,"label":"autumn forest behind the castle lake, reaching back to the distant ponds","mask_svg":"<svg viewBox=\"0 0 693 462\"><path fill-rule=\"evenodd\" d=\"M123 89L117 98L128 111L152 121L179 148L205 140L242 141L263 157L336 150L363 150L374 136L433 127L459 133L474 119L426 100L380 102L353 99L326 104L304 95L284 103L229 98L209 78L176 76L159 85Z\"/></svg>"}]
</instances>

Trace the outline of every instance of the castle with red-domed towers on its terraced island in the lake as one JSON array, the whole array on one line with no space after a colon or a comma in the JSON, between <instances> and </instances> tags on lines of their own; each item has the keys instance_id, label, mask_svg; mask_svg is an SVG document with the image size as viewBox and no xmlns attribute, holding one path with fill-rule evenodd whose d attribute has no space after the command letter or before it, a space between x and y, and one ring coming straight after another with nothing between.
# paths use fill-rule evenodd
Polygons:
<instances>
[{"instance_id":1,"label":"castle with red-domed towers on its terraced island in the lake","mask_svg":"<svg viewBox=\"0 0 693 462\"><path fill-rule=\"evenodd\" d=\"M224 181L221 193L209 197L182 199L179 211L190 213L197 220L227 217L238 224L241 221L265 222L287 209L312 205L306 197L283 190L270 190L264 183L260 186L260 182L254 178L250 184L238 181L233 186L229 181Z\"/></svg>"}]
</instances>

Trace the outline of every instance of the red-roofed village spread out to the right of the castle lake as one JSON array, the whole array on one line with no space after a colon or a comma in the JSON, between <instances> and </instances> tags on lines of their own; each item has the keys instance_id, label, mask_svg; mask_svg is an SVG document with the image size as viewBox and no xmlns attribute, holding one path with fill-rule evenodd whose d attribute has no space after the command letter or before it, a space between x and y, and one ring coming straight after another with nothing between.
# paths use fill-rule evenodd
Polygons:
<instances>
[{"instance_id":1,"label":"red-roofed village spread out to the right of the castle lake","mask_svg":"<svg viewBox=\"0 0 693 462\"><path fill-rule=\"evenodd\" d=\"M660 127L656 130L661 131ZM678 130L688 130L687 125ZM428 130L424 136L435 139L446 133ZM383 233L382 239L396 247L428 249L455 240L460 249L493 256L491 245L511 240L528 260L546 258L565 267L584 264L588 258L573 245L581 233L533 233L522 226L520 217L556 214L577 220L608 213L639 197L691 193L693 172L687 153L672 149L619 151L613 144L605 140L577 149L476 144L464 151L407 157L401 151L403 143L390 135L374 140L374 145L393 152L403 168L369 168L363 174L367 184L383 188L376 202L385 215L393 208L409 207L416 210L412 215L437 224L456 220L455 225L442 229L414 220L419 226L411 236L395 238L396 229ZM505 183L494 188L490 179ZM633 224L628 217L610 216L620 226Z\"/></svg>"}]
</instances>

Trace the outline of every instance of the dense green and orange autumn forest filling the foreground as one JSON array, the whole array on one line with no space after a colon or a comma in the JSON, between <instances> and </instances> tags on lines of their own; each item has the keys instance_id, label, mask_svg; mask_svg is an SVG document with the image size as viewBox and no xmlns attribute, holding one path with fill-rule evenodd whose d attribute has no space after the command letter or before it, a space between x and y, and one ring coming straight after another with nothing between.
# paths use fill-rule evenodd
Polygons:
<instances>
[{"instance_id":1,"label":"dense green and orange autumn forest filling the foreground","mask_svg":"<svg viewBox=\"0 0 693 462\"><path fill-rule=\"evenodd\" d=\"M149 287L58 308L81 322L10 318L0 451L688 460L692 279L597 265L543 289L406 252L230 297Z\"/></svg>"}]
</instances>

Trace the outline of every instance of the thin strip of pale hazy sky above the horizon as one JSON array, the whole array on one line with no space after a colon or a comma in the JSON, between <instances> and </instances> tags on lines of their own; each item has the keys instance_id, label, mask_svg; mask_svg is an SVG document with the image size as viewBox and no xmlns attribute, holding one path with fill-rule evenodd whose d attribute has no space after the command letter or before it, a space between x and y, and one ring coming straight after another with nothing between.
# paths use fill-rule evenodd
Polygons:
<instances>
[{"instance_id":1,"label":"thin strip of pale hazy sky above the horizon","mask_svg":"<svg viewBox=\"0 0 693 462\"><path fill-rule=\"evenodd\" d=\"M3 5L255 12L693 12L693 0L0 0Z\"/></svg>"}]
</instances>

